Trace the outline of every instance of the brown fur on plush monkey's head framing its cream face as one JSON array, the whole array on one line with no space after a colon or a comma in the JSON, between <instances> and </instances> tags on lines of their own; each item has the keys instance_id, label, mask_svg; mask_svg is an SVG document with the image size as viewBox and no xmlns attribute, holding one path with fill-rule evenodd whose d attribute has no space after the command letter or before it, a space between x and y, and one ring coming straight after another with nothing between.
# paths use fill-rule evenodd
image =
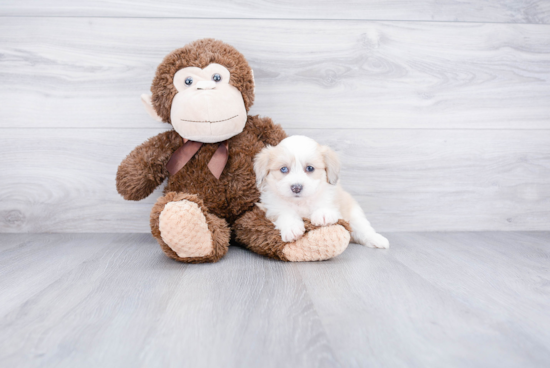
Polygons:
<instances>
[{"instance_id":1,"label":"brown fur on plush monkey's head framing its cream face","mask_svg":"<svg viewBox=\"0 0 550 368\"><path fill-rule=\"evenodd\" d=\"M254 103L254 78L248 62L233 46L205 38L172 51L157 68L151 92L153 107L162 121L170 123L172 100L178 93L173 83L174 74L183 68L205 68L212 63L223 65L229 70L229 84L241 91L246 111L250 110Z\"/></svg>"}]
</instances>

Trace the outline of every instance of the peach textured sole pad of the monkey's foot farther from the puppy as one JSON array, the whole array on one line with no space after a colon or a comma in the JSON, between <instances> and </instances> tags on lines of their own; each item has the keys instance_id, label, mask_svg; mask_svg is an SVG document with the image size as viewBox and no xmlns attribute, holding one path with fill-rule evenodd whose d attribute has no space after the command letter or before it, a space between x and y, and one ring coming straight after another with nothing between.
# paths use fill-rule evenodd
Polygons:
<instances>
[{"instance_id":1,"label":"peach textured sole pad of the monkey's foot farther from the puppy","mask_svg":"<svg viewBox=\"0 0 550 368\"><path fill-rule=\"evenodd\" d=\"M194 202L167 203L160 213L159 229L162 240L179 257L204 257L212 253L212 234Z\"/></svg>"}]
</instances>

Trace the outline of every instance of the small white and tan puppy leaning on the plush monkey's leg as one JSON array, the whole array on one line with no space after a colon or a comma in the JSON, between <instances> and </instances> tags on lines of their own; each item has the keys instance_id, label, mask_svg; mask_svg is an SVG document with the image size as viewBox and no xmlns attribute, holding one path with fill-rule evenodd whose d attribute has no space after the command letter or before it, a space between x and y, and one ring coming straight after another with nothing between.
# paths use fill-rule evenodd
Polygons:
<instances>
[{"instance_id":1,"label":"small white and tan puppy leaning on the plush monkey's leg","mask_svg":"<svg viewBox=\"0 0 550 368\"><path fill-rule=\"evenodd\" d=\"M254 159L256 183L261 192L260 208L281 231L285 242L304 234L303 217L323 226L347 220L354 243L388 248L359 204L338 183L340 161L336 152L313 139L292 136L279 145L264 148Z\"/></svg>"}]
</instances>

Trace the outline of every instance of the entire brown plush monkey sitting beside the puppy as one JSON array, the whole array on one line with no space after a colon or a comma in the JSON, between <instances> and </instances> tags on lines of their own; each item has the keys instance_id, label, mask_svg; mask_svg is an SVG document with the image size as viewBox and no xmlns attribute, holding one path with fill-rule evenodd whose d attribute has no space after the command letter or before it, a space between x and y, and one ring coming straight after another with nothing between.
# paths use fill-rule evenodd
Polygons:
<instances>
[{"instance_id":1,"label":"entire brown plush monkey sitting beside the puppy","mask_svg":"<svg viewBox=\"0 0 550 368\"><path fill-rule=\"evenodd\" d=\"M325 227L306 221L302 238L285 243L255 206L254 156L286 134L271 119L248 115L254 76L235 48L203 39L173 51L157 68L151 92L142 96L145 108L173 130L135 148L116 184L125 199L138 201L168 179L151 211L152 234L168 257L216 262L231 239L283 261L324 260L346 249L344 221Z\"/></svg>"}]
</instances>

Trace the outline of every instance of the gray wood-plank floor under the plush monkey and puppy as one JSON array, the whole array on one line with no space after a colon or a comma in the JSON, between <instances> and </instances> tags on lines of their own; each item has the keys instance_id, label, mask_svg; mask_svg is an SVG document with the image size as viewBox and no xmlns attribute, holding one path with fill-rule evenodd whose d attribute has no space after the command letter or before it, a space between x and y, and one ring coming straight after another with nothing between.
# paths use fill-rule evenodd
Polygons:
<instances>
[{"instance_id":1,"label":"gray wood-plank floor under the plush monkey and puppy","mask_svg":"<svg viewBox=\"0 0 550 368\"><path fill-rule=\"evenodd\" d=\"M327 262L0 235L1 367L550 366L550 234L390 233Z\"/></svg>"}]
</instances>

